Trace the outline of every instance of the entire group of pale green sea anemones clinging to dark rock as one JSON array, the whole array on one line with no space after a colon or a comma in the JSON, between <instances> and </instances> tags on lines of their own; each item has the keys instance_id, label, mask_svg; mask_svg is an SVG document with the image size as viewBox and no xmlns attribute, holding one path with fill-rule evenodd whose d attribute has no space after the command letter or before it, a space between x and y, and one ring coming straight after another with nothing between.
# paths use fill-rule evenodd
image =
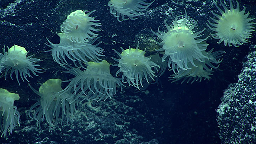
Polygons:
<instances>
[{"instance_id":1,"label":"entire group of pale green sea anemones clinging to dark rock","mask_svg":"<svg viewBox=\"0 0 256 144\"><path fill-rule=\"evenodd\" d=\"M154 1L145 2L147 0L110 0L110 13L117 18L117 21L135 20L143 15L142 11L146 10ZM220 4L225 9L221 10L217 5L217 9L222 16L214 14L219 20L210 17L216 24L209 21L210 25L216 27L212 28L208 25L210 30L217 33L212 34L213 38L220 39L218 43L224 41L224 45L229 46L241 45L249 42L252 30L250 23L251 18L248 18L249 13L245 14L245 8L240 11L237 2L236 9L233 8L231 0L230 10L220 0ZM86 12L88 12L86 14ZM178 24L176 16L174 25L169 26L164 21L167 32L151 31L158 36L162 41L158 42L161 48L156 49L154 54L148 53L145 48L139 47L139 42L136 48L123 49L114 52L120 59L112 58L117 63L116 77L111 74L110 63L103 58L103 49L100 47L100 42L94 44L100 37L96 32L101 26L90 15L94 11L76 10L71 12L63 24L60 26L61 33L59 44L53 44L47 39L49 44L46 44L51 49L53 60L62 66L68 73L74 77L62 81L60 79L49 79L43 84L40 83L39 91L35 90L31 85L31 89L40 96L39 100L28 111L30 118L37 121L40 126L41 122L49 124L49 130L64 119L69 119L75 113L75 104L81 103L84 100L107 100L112 99L116 94L117 89L128 83L128 86L133 86L140 90L143 85L155 81L155 78L164 74L167 68L172 70L170 80L176 82L182 80L191 83L194 81L201 81L210 79L212 76L212 69L217 69L222 62L220 57L223 50L213 52L214 49L207 50L206 43L207 36L203 37L205 28L201 31L193 31L197 22L192 26L187 27L188 22L187 12L185 10L185 17L183 22ZM144 49L144 50L143 50ZM36 64L41 60L32 58L33 55L27 56L25 48L14 45L8 52L0 54L0 73L5 70L4 76L9 74L12 79L12 74L15 72L18 84L18 75L21 80L28 81L27 76L32 77L30 73L38 76L36 73L42 73L43 69L36 68ZM72 66L74 64L74 66ZM122 74L119 78L119 74ZM62 89L61 82L69 82L67 86ZM144 87L143 87L144 88ZM20 114L17 112L17 107L14 106L14 101L18 100L18 94L10 93L5 89L0 89L0 128L2 135L6 138L7 131L11 134L13 128L18 124Z\"/></svg>"}]
</instances>

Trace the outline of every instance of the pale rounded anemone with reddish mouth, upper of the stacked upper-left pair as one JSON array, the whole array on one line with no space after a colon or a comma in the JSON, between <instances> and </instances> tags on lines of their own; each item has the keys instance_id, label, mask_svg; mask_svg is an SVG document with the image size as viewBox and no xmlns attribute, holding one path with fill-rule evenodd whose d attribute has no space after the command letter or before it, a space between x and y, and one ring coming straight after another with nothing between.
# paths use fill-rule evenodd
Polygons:
<instances>
[{"instance_id":1,"label":"pale rounded anemone with reddish mouth, upper of the stacked upper-left pair","mask_svg":"<svg viewBox=\"0 0 256 144\"><path fill-rule=\"evenodd\" d=\"M82 10L76 10L71 12L66 18L63 24L60 26L60 31L66 35L71 42L88 42L89 39L93 39L97 36L96 33L100 29L93 28L92 26L101 26L100 23L95 23L99 20L94 20L94 17L89 17L92 12L87 14Z\"/></svg>"}]
</instances>

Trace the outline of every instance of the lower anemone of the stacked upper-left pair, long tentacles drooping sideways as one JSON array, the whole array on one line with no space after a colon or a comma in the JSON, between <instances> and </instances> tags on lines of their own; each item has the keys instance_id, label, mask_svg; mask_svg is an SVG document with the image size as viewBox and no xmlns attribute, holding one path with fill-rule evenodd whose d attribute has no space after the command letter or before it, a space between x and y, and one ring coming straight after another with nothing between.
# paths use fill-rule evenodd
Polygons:
<instances>
[{"instance_id":1,"label":"lower anemone of the stacked upper-left pair, long tentacles drooping sideways","mask_svg":"<svg viewBox=\"0 0 256 144\"><path fill-rule=\"evenodd\" d=\"M59 44L53 44L49 39L47 40L50 45L46 44L48 47L52 48L48 51L52 52L53 60L58 64L68 64L66 58L73 61L77 67L82 66L82 63L88 63L88 61L101 61L101 59L98 58L99 56L103 56L102 48L98 47L98 44L100 43L92 45L99 37L96 39L90 39L86 43L76 43L70 41L64 33L58 33L58 36L60 37ZM79 63L79 66L76 62Z\"/></svg>"}]
</instances>

